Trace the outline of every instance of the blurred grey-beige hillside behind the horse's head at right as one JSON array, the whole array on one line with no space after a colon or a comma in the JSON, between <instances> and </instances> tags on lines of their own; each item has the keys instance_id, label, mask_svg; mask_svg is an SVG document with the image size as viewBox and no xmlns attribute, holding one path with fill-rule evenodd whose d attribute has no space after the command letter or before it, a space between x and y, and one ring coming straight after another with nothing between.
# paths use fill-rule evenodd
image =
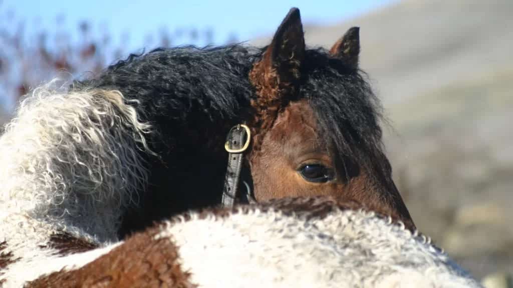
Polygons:
<instances>
[{"instance_id":1,"label":"blurred grey-beige hillside behind the horse's head at right","mask_svg":"<svg viewBox=\"0 0 513 288\"><path fill-rule=\"evenodd\" d=\"M512 11L511 0L411 0L305 27L326 48L361 27L396 183L418 228L477 277L513 273Z\"/></svg>"}]
</instances>

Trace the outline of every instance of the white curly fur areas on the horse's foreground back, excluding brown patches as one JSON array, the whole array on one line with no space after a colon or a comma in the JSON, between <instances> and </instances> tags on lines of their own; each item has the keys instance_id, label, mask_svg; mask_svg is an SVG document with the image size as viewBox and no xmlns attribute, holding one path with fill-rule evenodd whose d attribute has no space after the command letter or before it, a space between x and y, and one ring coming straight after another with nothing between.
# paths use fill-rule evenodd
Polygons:
<instances>
[{"instance_id":1,"label":"white curly fur areas on the horse's foreground back, excluding brown patches","mask_svg":"<svg viewBox=\"0 0 513 288\"><path fill-rule=\"evenodd\" d=\"M182 270L199 287L481 287L425 237L373 213L334 211L313 220L259 210L190 216L165 222L155 239L177 246ZM123 242L15 263L5 274L6 287L80 268L117 245Z\"/></svg>"}]
</instances>

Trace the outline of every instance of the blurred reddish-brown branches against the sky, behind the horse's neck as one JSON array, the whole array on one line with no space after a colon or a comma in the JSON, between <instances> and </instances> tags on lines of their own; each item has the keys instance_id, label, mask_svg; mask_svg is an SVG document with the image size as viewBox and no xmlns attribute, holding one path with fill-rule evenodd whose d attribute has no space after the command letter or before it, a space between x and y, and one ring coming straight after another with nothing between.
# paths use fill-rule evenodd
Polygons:
<instances>
[{"instance_id":1,"label":"blurred reddish-brown branches against the sky, behind the horse's neck","mask_svg":"<svg viewBox=\"0 0 513 288\"><path fill-rule=\"evenodd\" d=\"M0 0L0 8L1 5ZM3 47L0 49L0 98L9 95L12 97L11 100L17 102L19 97L31 88L56 77L59 73L70 73L74 77L80 77L85 72L95 74L112 61L132 52L126 49L129 34L120 35L121 44L115 46L106 27L102 26L101 30L104 32L101 35L94 35L93 25L87 21L78 23L78 40L73 42L71 33L63 31L62 27L66 27L64 15L56 17L57 31L39 32L35 37L37 40L30 41L27 40L23 21L18 21L17 28L11 31L11 25L7 23L16 22L14 13L7 11L2 14L7 15L4 18L7 21L0 21L0 44ZM211 28L204 31L196 28L176 28L173 32L162 28L157 33L157 41L153 40L152 34L148 34L145 43L141 43L140 46L170 47L175 42L209 45L212 44L213 38ZM228 42L237 42L236 35L230 34ZM4 103L6 101L0 100Z\"/></svg>"}]
</instances>

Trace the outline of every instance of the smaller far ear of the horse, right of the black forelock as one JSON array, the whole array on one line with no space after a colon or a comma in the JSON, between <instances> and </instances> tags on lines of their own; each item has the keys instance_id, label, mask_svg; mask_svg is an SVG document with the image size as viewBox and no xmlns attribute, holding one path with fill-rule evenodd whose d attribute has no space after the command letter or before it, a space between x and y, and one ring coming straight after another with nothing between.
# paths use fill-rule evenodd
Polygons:
<instances>
[{"instance_id":1,"label":"smaller far ear of the horse, right of the black forelock","mask_svg":"<svg viewBox=\"0 0 513 288\"><path fill-rule=\"evenodd\" d=\"M360 28L349 28L342 38L340 38L337 43L331 47L329 53L334 57L344 60L351 69L358 69L358 55L360 54Z\"/></svg>"}]
</instances>

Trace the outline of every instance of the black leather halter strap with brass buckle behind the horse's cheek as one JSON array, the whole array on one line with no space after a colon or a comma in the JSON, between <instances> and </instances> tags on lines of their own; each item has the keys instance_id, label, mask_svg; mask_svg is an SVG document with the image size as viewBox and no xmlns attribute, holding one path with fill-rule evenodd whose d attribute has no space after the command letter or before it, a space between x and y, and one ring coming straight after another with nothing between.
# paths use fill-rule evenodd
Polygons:
<instances>
[{"instance_id":1,"label":"black leather halter strap with brass buckle behind the horse's cheek","mask_svg":"<svg viewBox=\"0 0 513 288\"><path fill-rule=\"evenodd\" d=\"M239 124L230 129L225 143L225 150L228 152L228 166L226 168L225 186L223 189L223 198L221 205L231 208L235 204L235 199L239 196L239 180L242 170L242 160L244 152L249 147L251 141L251 132L244 124ZM247 183L245 183L248 186ZM250 193L249 187L248 194ZM248 195L248 199L250 195Z\"/></svg>"}]
</instances>

